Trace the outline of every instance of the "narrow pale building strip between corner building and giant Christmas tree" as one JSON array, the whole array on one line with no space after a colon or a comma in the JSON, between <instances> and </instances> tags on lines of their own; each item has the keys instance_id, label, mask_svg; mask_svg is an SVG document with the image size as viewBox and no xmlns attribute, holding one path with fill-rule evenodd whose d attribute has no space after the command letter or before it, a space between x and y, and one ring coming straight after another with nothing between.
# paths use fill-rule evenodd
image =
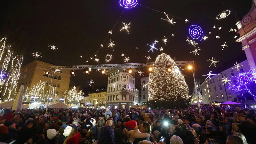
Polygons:
<instances>
[{"instance_id":1,"label":"narrow pale building strip between corner building and giant Christmas tree","mask_svg":"<svg viewBox=\"0 0 256 144\"><path fill-rule=\"evenodd\" d=\"M149 80L149 77L140 78L140 90L141 90L140 105L148 104L148 86L144 88L144 84L148 84L148 80Z\"/></svg>"}]
</instances>

